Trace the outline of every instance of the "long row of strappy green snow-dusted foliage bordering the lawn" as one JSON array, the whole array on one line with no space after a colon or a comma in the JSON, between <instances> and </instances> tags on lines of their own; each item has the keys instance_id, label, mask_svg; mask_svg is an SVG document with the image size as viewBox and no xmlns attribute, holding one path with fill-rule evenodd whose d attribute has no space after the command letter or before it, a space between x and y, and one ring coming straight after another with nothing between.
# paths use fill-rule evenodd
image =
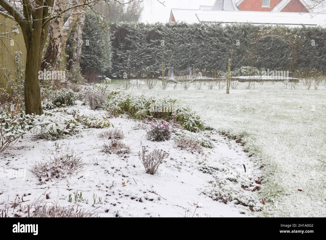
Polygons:
<instances>
[{"instance_id":1,"label":"long row of strappy green snow-dusted foliage bordering the lawn","mask_svg":"<svg viewBox=\"0 0 326 240\"><path fill-rule=\"evenodd\" d=\"M155 111L153 106L165 106L165 110L168 111ZM144 119L148 116L169 119L179 122L183 128L192 132L204 130L204 122L200 116L190 108L178 106L173 99L132 96L116 89L109 94L103 108L112 115L127 114L135 119Z\"/></svg>"}]
</instances>

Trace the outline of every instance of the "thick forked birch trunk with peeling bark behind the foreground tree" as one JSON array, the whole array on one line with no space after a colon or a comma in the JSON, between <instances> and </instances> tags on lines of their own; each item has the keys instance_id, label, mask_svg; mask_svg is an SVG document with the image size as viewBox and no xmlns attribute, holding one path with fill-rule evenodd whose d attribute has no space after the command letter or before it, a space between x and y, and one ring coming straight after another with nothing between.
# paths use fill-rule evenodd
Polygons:
<instances>
[{"instance_id":1,"label":"thick forked birch trunk with peeling bark behind the foreground tree","mask_svg":"<svg viewBox=\"0 0 326 240\"><path fill-rule=\"evenodd\" d=\"M56 10L62 12L67 6L67 0L57 0ZM83 1L79 0L79 4ZM80 7L73 8L70 16L64 23L63 18L56 18L50 29L49 45L42 60L41 70L51 67L53 70L59 70L62 53L70 32L75 25L78 17L82 13Z\"/></svg>"}]
</instances>

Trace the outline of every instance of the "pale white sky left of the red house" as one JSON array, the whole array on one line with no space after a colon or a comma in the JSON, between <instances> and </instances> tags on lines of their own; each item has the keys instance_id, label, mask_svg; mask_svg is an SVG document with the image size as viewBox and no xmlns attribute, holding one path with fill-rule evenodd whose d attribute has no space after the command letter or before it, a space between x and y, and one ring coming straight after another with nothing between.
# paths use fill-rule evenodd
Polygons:
<instances>
[{"instance_id":1,"label":"pale white sky left of the red house","mask_svg":"<svg viewBox=\"0 0 326 240\"><path fill-rule=\"evenodd\" d=\"M200 5L213 6L215 0L161 0L165 7L157 0L144 0L142 22L168 22L171 8L199 9Z\"/></svg>"}]
</instances>

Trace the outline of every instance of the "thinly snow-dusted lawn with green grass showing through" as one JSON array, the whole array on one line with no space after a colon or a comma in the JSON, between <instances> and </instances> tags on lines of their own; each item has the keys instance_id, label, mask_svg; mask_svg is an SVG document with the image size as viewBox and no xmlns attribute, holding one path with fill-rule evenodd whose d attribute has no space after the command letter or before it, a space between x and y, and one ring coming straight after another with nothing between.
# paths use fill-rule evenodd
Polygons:
<instances>
[{"instance_id":1,"label":"thinly snow-dusted lawn with green grass showing through","mask_svg":"<svg viewBox=\"0 0 326 240\"><path fill-rule=\"evenodd\" d=\"M121 87L123 81L120 82ZM112 81L110 87L119 82ZM289 88L289 86L288 86ZM256 153L256 160L267 164L270 175L260 191L260 198L273 200L265 215L273 217L325 217L326 215L326 90L286 89L283 83L255 84L245 89L241 83L236 90L188 90L179 85L162 90L160 83L148 90L146 85L133 94L175 98L189 105L216 129L232 133L246 130L247 147ZM323 107L324 106L324 107ZM269 164L269 165L268 165ZM300 190L298 190L300 189ZM301 191L302 190L302 191ZM268 206L268 205L267 205Z\"/></svg>"}]
</instances>

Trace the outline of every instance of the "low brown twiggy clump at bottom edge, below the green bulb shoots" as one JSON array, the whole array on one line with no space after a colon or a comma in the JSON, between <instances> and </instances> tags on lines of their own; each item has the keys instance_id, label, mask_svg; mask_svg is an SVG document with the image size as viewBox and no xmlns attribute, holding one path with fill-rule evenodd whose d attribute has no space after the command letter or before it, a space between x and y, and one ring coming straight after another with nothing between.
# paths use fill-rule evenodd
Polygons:
<instances>
[{"instance_id":1,"label":"low brown twiggy clump at bottom edge, below the green bulb shoots","mask_svg":"<svg viewBox=\"0 0 326 240\"><path fill-rule=\"evenodd\" d=\"M56 205L49 206L47 203L37 203L28 207L29 217L97 217L97 213L88 213L74 206L60 207Z\"/></svg>"}]
</instances>

